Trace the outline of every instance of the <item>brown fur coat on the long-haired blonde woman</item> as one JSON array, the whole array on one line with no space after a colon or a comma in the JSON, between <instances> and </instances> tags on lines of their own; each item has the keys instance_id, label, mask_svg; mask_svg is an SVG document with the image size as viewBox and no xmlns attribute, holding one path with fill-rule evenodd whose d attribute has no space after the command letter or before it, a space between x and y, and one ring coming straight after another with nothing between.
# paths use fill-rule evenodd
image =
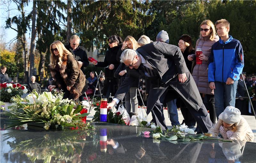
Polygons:
<instances>
[{"instance_id":1,"label":"brown fur coat on the long-haired blonde woman","mask_svg":"<svg viewBox=\"0 0 256 163\"><path fill-rule=\"evenodd\" d=\"M84 73L78 68L77 61L73 55L64 55L61 60L60 67L58 65L55 66L55 69L50 67L54 78L52 85L57 85L59 89L70 86L69 92L74 99L77 99L86 91Z\"/></svg>"}]
</instances>

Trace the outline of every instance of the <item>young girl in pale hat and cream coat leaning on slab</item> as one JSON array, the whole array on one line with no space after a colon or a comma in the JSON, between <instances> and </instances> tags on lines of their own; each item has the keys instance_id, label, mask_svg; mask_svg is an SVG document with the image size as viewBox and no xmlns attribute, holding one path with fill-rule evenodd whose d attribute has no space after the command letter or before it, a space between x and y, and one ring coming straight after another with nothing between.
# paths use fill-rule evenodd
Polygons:
<instances>
[{"instance_id":1,"label":"young girl in pale hat and cream coat leaning on slab","mask_svg":"<svg viewBox=\"0 0 256 163\"><path fill-rule=\"evenodd\" d=\"M219 133L223 138L252 142L254 135L239 109L228 106L219 115L218 122L208 131L213 137Z\"/></svg>"}]
</instances>

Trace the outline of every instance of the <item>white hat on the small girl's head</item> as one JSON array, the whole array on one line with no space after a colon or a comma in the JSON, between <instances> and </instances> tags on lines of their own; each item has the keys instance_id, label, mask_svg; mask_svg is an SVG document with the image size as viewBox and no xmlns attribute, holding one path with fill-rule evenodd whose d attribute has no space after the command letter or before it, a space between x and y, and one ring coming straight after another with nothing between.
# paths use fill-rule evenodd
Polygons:
<instances>
[{"instance_id":1,"label":"white hat on the small girl's head","mask_svg":"<svg viewBox=\"0 0 256 163\"><path fill-rule=\"evenodd\" d=\"M227 106L219 118L228 124L236 123L240 120L241 112L233 106Z\"/></svg>"}]
</instances>

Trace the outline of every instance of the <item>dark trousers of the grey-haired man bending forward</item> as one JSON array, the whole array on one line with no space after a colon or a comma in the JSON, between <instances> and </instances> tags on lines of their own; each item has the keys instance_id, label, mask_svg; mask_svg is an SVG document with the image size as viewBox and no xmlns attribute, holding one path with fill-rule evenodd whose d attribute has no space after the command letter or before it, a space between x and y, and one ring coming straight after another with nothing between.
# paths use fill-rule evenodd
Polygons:
<instances>
[{"instance_id":1,"label":"dark trousers of the grey-haired man bending forward","mask_svg":"<svg viewBox=\"0 0 256 163\"><path fill-rule=\"evenodd\" d=\"M167 129L166 124L165 124L165 120L164 120L164 114L162 113L162 109L163 109L163 102L164 100L166 101L165 97L166 94L176 94L176 92L173 92L173 90L165 90L164 93L160 96L160 98L156 101L155 106L153 107L151 113L152 113L152 117L153 117L153 121L156 123L156 125L160 126L163 130ZM182 97L181 97L182 99ZM204 106L204 104L202 104L202 106L200 107L200 109L198 111L196 111L192 106L190 106L189 103L187 103L184 99L182 99L183 102L185 103L185 105L188 108L188 111L191 113L191 115L194 117L194 119L196 120L197 124L199 125L200 129L203 132L208 132L208 130L210 130L210 128L213 126L210 116L208 115L208 112Z\"/></svg>"}]
</instances>

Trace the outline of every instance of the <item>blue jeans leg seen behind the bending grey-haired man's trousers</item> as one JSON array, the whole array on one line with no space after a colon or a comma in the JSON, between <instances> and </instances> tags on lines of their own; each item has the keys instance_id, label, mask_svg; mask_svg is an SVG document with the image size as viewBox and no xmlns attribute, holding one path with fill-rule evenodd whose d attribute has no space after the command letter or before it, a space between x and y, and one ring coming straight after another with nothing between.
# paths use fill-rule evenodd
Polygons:
<instances>
[{"instance_id":1,"label":"blue jeans leg seen behind the bending grey-haired man's trousers","mask_svg":"<svg viewBox=\"0 0 256 163\"><path fill-rule=\"evenodd\" d=\"M180 124L176 106L176 99L167 102L168 112L172 126Z\"/></svg>"}]
</instances>

